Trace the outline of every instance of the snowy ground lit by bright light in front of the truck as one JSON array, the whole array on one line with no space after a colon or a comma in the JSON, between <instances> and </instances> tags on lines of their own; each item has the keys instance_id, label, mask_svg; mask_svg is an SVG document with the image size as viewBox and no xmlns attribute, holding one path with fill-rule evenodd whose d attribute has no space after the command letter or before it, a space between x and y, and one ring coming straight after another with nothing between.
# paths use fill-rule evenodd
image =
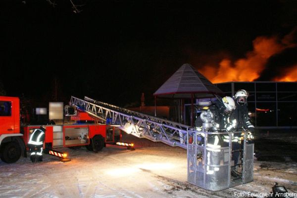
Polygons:
<instances>
[{"instance_id":1,"label":"snowy ground lit by bright light in front of the truck","mask_svg":"<svg viewBox=\"0 0 297 198\"><path fill-rule=\"evenodd\" d=\"M38 163L0 162L0 198L232 198L236 192L268 193L274 182L297 192L296 162L255 160L253 182L211 192L187 183L186 150L131 135L124 139L136 150L63 148L70 162L49 155Z\"/></svg>"}]
</instances>

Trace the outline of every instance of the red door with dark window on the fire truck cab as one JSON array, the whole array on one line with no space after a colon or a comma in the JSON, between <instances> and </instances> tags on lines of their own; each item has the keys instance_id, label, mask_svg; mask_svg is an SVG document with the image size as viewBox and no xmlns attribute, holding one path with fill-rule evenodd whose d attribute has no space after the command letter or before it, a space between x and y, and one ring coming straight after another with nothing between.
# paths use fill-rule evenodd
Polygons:
<instances>
[{"instance_id":1,"label":"red door with dark window on the fire truck cab","mask_svg":"<svg viewBox=\"0 0 297 198\"><path fill-rule=\"evenodd\" d=\"M11 101L0 101L0 131L4 134L14 133L15 130L11 104Z\"/></svg>"}]
</instances>

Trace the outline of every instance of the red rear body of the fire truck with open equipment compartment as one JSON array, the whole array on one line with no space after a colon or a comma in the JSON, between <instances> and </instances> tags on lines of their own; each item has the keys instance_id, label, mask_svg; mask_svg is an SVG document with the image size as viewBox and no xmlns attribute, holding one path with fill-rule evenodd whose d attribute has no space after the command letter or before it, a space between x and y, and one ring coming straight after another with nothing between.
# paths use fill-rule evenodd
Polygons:
<instances>
[{"instance_id":1,"label":"red rear body of the fire truck with open equipment compartment","mask_svg":"<svg viewBox=\"0 0 297 198\"><path fill-rule=\"evenodd\" d=\"M45 148L86 146L89 151L98 152L107 144L119 142L121 131L106 124L45 125ZM24 127L23 139L29 141L30 134L40 125Z\"/></svg>"}]
</instances>

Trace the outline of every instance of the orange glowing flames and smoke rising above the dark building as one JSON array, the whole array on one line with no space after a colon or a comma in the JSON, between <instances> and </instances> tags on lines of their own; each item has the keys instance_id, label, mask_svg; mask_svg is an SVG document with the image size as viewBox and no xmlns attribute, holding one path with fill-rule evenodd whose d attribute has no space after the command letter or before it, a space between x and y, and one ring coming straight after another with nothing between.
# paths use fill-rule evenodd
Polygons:
<instances>
[{"instance_id":1,"label":"orange glowing flames and smoke rising above the dark building","mask_svg":"<svg viewBox=\"0 0 297 198\"><path fill-rule=\"evenodd\" d=\"M296 31L296 30L294 30ZM253 81L260 76L265 69L267 60L274 54L280 53L285 48L293 47L290 42L292 33L282 40L277 37L257 37L253 40L253 50L246 53L245 58L232 61L224 58L220 61L219 67L204 65L198 70L213 83L228 81ZM296 81L297 67L290 68L282 78L275 78L276 81Z\"/></svg>"}]
</instances>

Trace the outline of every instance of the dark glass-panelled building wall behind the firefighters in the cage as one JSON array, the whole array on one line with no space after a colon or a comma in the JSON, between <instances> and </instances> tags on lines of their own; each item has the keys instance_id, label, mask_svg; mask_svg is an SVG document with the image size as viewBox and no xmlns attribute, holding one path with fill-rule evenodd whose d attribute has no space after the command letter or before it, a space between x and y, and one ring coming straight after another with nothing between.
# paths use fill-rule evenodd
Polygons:
<instances>
[{"instance_id":1,"label":"dark glass-panelled building wall behind the firefighters in the cage","mask_svg":"<svg viewBox=\"0 0 297 198\"><path fill-rule=\"evenodd\" d=\"M297 128L297 82L224 82L216 84L226 95L245 89L248 110L258 128Z\"/></svg>"}]
</instances>

